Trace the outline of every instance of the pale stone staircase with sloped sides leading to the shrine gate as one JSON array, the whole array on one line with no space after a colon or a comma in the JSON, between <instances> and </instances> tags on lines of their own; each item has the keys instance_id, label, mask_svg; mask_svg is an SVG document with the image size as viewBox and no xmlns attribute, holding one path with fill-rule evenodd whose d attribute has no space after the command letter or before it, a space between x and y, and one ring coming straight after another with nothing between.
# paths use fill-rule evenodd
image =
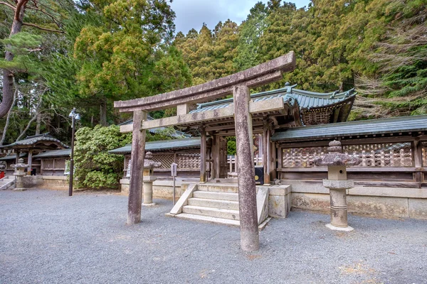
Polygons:
<instances>
[{"instance_id":1,"label":"pale stone staircase with sloped sides leading to the shrine gate","mask_svg":"<svg viewBox=\"0 0 427 284\"><path fill-rule=\"evenodd\" d=\"M268 190L257 194L258 225L268 217ZM238 187L235 183L189 185L168 216L240 226Z\"/></svg>"}]
</instances>

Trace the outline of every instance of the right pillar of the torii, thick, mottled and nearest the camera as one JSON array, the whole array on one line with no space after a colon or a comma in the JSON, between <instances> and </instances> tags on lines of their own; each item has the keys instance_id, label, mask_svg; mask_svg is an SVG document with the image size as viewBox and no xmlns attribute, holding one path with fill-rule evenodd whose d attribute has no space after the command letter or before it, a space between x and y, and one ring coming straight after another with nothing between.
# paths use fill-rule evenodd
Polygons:
<instances>
[{"instance_id":1,"label":"right pillar of the torii, thick, mottled and nearest the camera","mask_svg":"<svg viewBox=\"0 0 427 284\"><path fill-rule=\"evenodd\" d=\"M248 87L233 87L238 154L238 207L243 251L257 251L260 246L253 165L252 116L249 113L250 99Z\"/></svg>"}]
</instances>

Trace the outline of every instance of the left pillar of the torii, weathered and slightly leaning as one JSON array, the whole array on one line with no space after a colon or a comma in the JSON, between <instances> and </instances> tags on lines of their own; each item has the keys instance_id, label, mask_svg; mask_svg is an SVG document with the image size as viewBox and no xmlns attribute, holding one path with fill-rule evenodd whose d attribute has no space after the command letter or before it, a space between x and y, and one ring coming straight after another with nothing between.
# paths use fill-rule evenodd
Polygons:
<instances>
[{"instance_id":1,"label":"left pillar of the torii, weathered and slightly leaning","mask_svg":"<svg viewBox=\"0 0 427 284\"><path fill-rule=\"evenodd\" d=\"M134 111L132 131L131 172L129 200L127 204L127 224L141 222L142 178L145 158L145 129L141 130L142 121L147 119L147 111Z\"/></svg>"}]
</instances>

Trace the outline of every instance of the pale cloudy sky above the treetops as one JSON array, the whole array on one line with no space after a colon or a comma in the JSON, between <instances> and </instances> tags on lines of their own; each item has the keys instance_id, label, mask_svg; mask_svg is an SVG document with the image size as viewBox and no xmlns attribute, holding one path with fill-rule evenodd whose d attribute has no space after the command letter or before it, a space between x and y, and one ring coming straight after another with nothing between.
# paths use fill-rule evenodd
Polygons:
<instances>
[{"instance_id":1,"label":"pale cloudy sky above the treetops","mask_svg":"<svg viewBox=\"0 0 427 284\"><path fill-rule=\"evenodd\" d=\"M219 21L226 21L228 18L240 24L258 1L267 3L268 0L174 0L172 9L176 13L176 32L186 34L191 28L199 31L203 23L213 29ZM307 6L310 0L292 2L300 8Z\"/></svg>"}]
</instances>

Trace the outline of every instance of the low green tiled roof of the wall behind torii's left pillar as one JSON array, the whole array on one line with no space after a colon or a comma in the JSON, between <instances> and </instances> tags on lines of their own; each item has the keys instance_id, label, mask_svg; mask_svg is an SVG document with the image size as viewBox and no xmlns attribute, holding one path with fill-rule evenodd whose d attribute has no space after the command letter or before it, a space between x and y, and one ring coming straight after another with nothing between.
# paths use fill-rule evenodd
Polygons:
<instances>
[{"instance_id":1,"label":"low green tiled roof of the wall behind torii's left pillar","mask_svg":"<svg viewBox=\"0 0 427 284\"><path fill-rule=\"evenodd\" d=\"M182 138L182 139L172 139L172 140L162 140L162 141L149 141L145 143L145 151L164 151L164 150L173 150L173 149L183 149L183 148L199 148L200 147L200 137L196 138ZM132 144L127 144L122 148L117 148L108 153L112 154L128 154L132 151Z\"/></svg>"}]
</instances>

